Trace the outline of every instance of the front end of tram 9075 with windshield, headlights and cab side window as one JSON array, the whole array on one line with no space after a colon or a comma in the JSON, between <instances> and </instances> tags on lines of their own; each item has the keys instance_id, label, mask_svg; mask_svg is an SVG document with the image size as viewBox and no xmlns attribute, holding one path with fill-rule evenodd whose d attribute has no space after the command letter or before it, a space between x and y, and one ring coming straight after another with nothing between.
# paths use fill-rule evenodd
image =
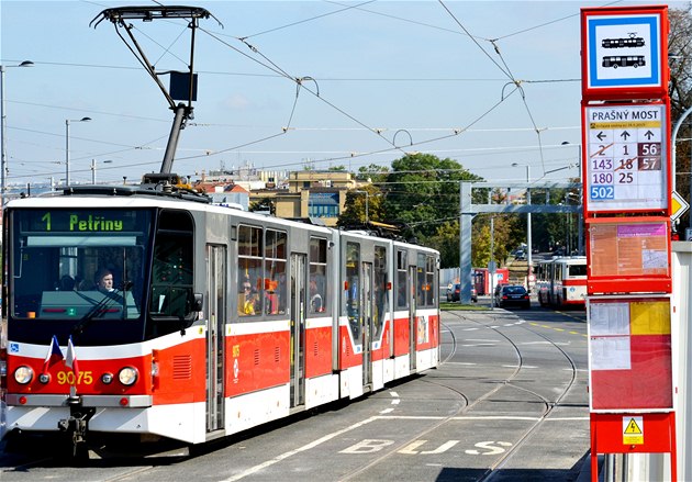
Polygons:
<instances>
[{"instance_id":1,"label":"front end of tram 9075 with windshield, headlights and cab side window","mask_svg":"<svg viewBox=\"0 0 692 482\"><path fill-rule=\"evenodd\" d=\"M65 434L72 455L88 431L152 430L153 340L185 332L194 302L188 246L156 243L160 210L116 204L36 198L5 211L5 431Z\"/></svg>"}]
</instances>

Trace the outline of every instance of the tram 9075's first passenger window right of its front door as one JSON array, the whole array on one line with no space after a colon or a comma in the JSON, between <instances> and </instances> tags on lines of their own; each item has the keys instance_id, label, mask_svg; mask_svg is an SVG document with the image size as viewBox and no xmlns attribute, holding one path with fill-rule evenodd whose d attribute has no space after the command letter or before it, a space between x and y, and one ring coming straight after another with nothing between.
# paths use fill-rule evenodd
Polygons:
<instances>
[{"instance_id":1,"label":"tram 9075's first passenger window right of its front door","mask_svg":"<svg viewBox=\"0 0 692 482\"><path fill-rule=\"evenodd\" d=\"M238 314L261 313L261 227L238 226Z\"/></svg>"}]
</instances>

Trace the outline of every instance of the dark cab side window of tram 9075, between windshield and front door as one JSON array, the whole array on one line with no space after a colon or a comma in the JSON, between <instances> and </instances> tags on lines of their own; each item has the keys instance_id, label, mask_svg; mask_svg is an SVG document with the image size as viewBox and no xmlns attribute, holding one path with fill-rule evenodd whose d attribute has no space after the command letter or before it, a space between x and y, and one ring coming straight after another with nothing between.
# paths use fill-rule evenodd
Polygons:
<instances>
[{"instance_id":1,"label":"dark cab side window of tram 9075, between windshield and front door","mask_svg":"<svg viewBox=\"0 0 692 482\"><path fill-rule=\"evenodd\" d=\"M170 318L190 321L194 300L193 234L188 212L161 211L152 265L152 325L147 328L154 336L180 329L180 324L170 323Z\"/></svg>"}]
</instances>

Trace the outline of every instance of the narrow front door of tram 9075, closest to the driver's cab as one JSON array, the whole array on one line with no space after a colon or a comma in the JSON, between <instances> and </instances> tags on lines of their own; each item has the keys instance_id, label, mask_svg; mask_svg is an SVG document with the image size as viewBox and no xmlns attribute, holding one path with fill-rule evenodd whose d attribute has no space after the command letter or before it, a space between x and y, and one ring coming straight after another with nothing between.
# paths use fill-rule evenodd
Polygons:
<instances>
[{"instance_id":1,"label":"narrow front door of tram 9075, closest to the driver's cab","mask_svg":"<svg viewBox=\"0 0 692 482\"><path fill-rule=\"evenodd\" d=\"M207 246L207 431L213 431L224 427L225 246Z\"/></svg>"}]
</instances>

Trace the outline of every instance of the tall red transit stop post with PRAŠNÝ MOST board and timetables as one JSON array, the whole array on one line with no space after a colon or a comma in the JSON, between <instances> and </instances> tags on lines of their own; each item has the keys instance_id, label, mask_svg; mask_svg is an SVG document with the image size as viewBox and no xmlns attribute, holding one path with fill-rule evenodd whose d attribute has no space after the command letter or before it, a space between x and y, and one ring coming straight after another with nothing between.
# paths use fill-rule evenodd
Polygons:
<instances>
[{"instance_id":1,"label":"tall red transit stop post with PRA\u0160N\u00dd MOST board and timetables","mask_svg":"<svg viewBox=\"0 0 692 482\"><path fill-rule=\"evenodd\" d=\"M591 480L599 452L677 480L668 8L584 8L581 42Z\"/></svg>"}]
</instances>

